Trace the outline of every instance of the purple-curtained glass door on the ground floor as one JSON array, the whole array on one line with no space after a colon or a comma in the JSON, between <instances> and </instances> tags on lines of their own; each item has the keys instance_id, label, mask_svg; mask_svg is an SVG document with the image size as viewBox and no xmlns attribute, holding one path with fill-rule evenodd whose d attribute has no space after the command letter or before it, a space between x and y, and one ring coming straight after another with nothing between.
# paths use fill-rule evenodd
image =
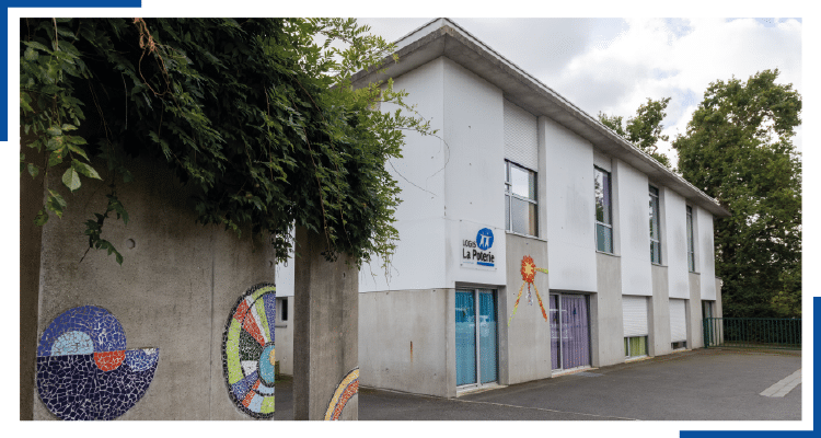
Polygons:
<instances>
[{"instance_id":1,"label":"purple-curtained glass door on the ground floor","mask_svg":"<svg viewBox=\"0 0 821 438\"><path fill-rule=\"evenodd\" d=\"M590 365L586 296L551 296L551 361L553 369Z\"/></svg>"}]
</instances>

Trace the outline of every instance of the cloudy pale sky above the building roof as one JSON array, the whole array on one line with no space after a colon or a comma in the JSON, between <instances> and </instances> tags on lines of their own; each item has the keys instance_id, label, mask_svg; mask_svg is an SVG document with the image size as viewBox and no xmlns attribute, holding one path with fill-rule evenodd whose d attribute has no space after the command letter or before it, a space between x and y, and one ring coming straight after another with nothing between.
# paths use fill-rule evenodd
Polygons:
<instances>
[{"instance_id":1,"label":"cloudy pale sky above the building roof","mask_svg":"<svg viewBox=\"0 0 821 438\"><path fill-rule=\"evenodd\" d=\"M358 22L393 42L430 20ZM591 116L626 122L648 97L671 97L662 122L670 140L686 131L710 82L777 68L778 83L802 91L801 19L451 20ZM798 150L801 142L799 127ZM659 150L678 162L669 142Z\"/></svg>"}]
</instances>

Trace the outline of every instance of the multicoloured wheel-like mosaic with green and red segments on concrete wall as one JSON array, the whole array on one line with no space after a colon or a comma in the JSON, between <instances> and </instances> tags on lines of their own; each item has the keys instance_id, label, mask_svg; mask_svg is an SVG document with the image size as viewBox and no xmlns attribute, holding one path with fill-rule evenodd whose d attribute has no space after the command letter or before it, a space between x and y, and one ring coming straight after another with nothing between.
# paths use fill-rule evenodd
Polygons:
<instances>
[{"instance_id":1,"label":"multicoloured wheel-like mosaic with green and red segments on concrete wall","mask_svg":"<svg viewBox=\"0 0 821 438\"><path fill-rule=\"evenodd\" d=\"M254 418L274 416L276 287L261 284L234 304L222 335L222 369L236 407Z\"/></svg>"}]
</instances>

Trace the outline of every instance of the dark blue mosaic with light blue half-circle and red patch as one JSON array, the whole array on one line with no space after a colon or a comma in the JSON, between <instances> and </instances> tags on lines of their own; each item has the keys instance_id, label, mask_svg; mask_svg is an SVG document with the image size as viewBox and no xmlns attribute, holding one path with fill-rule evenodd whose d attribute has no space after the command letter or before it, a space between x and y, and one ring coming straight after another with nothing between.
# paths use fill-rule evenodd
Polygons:
<instances>
[{"instance_id":1,"label":"dark blue mosaic with light blue half-circle and red patch","mask_svg":"<svg viewBox=\"0 0 821 438\"><path fill-rule=\"evenodd\" d=\"M39 397L61 419L114 419L146 393L159 358L159 348L127 350L123 325L107 310L74 308L39 338Z\"/></svg>"}]
</instances>

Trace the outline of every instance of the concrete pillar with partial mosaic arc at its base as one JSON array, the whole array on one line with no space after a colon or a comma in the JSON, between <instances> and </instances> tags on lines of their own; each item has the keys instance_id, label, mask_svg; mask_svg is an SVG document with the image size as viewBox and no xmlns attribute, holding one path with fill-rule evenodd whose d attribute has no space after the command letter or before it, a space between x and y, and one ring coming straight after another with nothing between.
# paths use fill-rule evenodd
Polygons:
<instances>
[{"instance_id":1,"label":"concrete pillar with partial mosaic arc at its base","mask_svg":"<svg viewBox=\"0 0 821 438\"><path fill-rule=\"evenodd\" d=\"M293 419L358 419L359 272L322 255L325 237L297 227Z\"/></svg>"}]
</instances>

